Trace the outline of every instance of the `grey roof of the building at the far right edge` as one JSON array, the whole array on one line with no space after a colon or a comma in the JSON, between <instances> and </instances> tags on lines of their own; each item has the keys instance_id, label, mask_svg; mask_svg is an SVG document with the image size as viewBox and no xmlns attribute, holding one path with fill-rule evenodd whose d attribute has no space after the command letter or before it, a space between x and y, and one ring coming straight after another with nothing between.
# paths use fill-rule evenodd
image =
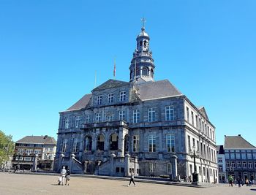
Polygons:
<instances>
[{"instance_id":1,"label":"grey roof of the building at the far right edge","mask_svg":"<svg viewBox=\"0 0 256 195\"><path fill-rule=\"evenodd\" d=\"M225 149L256 149L254 145L247 142L241 135L238 136L225 136Z\"/></svg>"}]
</instances>

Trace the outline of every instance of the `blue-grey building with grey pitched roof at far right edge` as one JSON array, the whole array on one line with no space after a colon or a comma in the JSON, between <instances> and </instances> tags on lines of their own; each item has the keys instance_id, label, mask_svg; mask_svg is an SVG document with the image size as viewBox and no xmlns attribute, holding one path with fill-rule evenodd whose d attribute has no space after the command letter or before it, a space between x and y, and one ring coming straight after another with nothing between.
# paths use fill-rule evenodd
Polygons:
<instances>
[{"instance_id":1,"label":"blue-grey building with grey pitched roof at far right edge","mask_svg":"<svg viewBox=\"0 0 256 195\"><path fill-rule=\"evenodd\" d=\"M255 180L256 177L256 147L241 137L225 136L225 163L226 177L233 177L245 180Z\"/></svg>"}]
</instances>

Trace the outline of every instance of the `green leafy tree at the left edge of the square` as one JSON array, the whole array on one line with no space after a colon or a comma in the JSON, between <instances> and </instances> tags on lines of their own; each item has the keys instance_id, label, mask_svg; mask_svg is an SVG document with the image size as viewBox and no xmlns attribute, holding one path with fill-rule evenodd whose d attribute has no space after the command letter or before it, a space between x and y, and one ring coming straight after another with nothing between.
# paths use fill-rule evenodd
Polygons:
<instances>
[{"instance_id":1,"label":"green leafy tree at the left edge of the square","mask_svg":"<svg viewBox=\"0 0 256 195\"><path fill-rule=\"evenodd\" d=\"M6 135L0 130L0 167L9 161L10 156L14 153L14 142L12 141L12 135Z\"/></svg>"}]
</instances>

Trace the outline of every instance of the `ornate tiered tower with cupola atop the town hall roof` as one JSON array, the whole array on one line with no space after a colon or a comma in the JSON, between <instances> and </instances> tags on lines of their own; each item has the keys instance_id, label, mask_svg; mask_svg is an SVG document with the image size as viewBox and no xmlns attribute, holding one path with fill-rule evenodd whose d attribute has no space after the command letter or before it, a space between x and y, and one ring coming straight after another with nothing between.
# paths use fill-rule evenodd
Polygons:
<instances>
[{"instance_id":1,"label":"ornate tiered tower with cupola atop the town hall roof","mask_svg":"<svg viewBox=\"0 0 256 195\"><path fill-rule=\"evenodd\" d=\"M142 19L143 26L136 39L137 47L133 53L131 65L129 66L130 82L154 81L154 59L149 49L149 36L145 31L146 20Z\"/></svg>"}]
</instances>

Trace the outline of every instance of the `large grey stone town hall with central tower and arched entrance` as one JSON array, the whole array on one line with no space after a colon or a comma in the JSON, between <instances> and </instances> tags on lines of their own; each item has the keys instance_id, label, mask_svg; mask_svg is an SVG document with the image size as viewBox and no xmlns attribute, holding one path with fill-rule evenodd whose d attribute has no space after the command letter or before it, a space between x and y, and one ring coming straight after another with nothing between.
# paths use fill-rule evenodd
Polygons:
<instances>
[{"instance_id":1,"label":"large grey stone town hall with central tower and arched entrance","mask_svg":"<svg viewBox=\"0 0 256 195\"><path fill-rule=\"evenodd\" d=\"M110 79L59 112L54 169L112 176L135 172L172 180L196 171L199 182L214 182L215 127L205 108L195 106L169 80L154 80L144 26L136 41L129 82Z\"/></svg>"}]
</instances>

